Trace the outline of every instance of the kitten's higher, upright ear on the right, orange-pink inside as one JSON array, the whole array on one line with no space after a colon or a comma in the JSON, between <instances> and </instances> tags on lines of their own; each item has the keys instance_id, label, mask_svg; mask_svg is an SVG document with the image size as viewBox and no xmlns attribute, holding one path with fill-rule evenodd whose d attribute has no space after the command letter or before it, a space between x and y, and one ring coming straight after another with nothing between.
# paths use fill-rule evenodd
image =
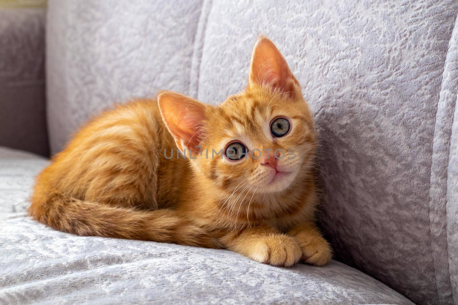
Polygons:
<instances>
[{"instance_id":1,"label":"kitten's higher, upright ear on the right, orange-pink inside","mask_svg":"<svg viewBox=\"0 0 458 305\"><path fill-rule=\"evenodd\" d=\"M251 56L248 88L272 86L290 96L301 95L300 84L289 70L286 60L277 47L261 36L257 40Z\"/></svg>"}]
</instances>

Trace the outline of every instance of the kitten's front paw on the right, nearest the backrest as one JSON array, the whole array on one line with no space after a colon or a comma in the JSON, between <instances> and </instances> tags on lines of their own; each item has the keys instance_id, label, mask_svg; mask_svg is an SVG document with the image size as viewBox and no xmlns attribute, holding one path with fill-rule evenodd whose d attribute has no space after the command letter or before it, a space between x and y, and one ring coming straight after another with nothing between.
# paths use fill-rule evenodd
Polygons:
<instances>
[{"instance_id":1,"label":"kitten's front paw on the right, nearest the backrest","mask_svg":"<svg viewBox=\"0 0 458 305\"><path fill-rule=\"evenodd\" d=\"M298 240L298 238L296 238ZM302 237L298 240L302 250L302 260L315 266L326 265L333 256L333 251L329 243L321 236Z\"/></svg>"}]
</instances>

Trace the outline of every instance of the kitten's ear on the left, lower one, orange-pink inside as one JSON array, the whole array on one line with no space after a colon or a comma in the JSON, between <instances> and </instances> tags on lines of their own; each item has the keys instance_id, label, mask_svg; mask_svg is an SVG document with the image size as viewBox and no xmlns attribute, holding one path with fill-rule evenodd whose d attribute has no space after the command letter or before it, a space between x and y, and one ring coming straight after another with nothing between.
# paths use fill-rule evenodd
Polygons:
<instances>
[{"instance_id":1,"label":"kitten's ear on the left, lower one, orange-pink inside","mask_svg":"<svg viewBox=\"0 0 458 305\"><path fill-rule=\"evenodd\" d=\"M191 97L164 91L158 95L159 109L165 125L175 139L178 148L199 151L203 135L205 105Z\"/></svg>"}]
</instances>

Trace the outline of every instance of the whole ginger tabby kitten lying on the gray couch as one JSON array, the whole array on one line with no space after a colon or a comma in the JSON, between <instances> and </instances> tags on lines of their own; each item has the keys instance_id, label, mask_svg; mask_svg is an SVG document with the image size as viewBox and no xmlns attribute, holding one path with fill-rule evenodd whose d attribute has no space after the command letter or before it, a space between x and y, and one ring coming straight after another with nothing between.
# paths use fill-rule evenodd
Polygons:
<instances>
[{"instance_id":1,"label":"whole ginger tabby kitten lying on the gray couch","mask_svg":"<svg viewBox=\"0 0 458 305\"><path fill-rule=\"evenodd\" d=\"M314 222L315 149L299 82L260 37L247 89L218 106L166 91L87 123L38 175L29 213L78 235L321 266L331 247Z\"/></svg>"}]
</instances>

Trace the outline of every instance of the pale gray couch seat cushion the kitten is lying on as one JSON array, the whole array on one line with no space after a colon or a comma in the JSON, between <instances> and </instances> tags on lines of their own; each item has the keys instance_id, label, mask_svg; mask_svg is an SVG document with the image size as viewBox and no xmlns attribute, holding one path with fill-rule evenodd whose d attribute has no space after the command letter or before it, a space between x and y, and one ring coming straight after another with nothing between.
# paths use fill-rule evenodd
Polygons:
<instances>
[{"instance_id":1,"label":"pale gray couch seat cushion the kitten is lying on","mask_svg":"<svg viewBox=\"0 0 458 305\"><path fill-rule=\"evenodd\" d=\"M52 230L26 214L47 164L0 147L1 304L413 304L341 262L277 268L226 250Z\"/></svg>"}]
</instances>

